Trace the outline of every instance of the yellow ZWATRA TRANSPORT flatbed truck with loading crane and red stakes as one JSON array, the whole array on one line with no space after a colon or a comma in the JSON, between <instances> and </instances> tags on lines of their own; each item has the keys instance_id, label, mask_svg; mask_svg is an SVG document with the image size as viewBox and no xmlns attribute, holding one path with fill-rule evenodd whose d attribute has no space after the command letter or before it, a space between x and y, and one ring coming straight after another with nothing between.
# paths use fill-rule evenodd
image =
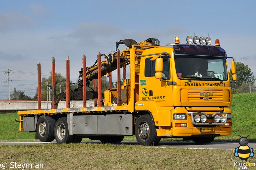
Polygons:
<instances>
[{"instance_id":1,"label":"yellow ZWATRA TRANSPORT flatbed truck with loading crane and red stakes","mask_svg":"<svg viewBox=\"0 0 256 170\"><path fill-rule=\"evenodd\" d=\"M127 46L122 52L120 44ZM124 39L116 43L116 51L103 55L107 60L101 62L101 56L98 52L98 65L83 65L76 90L67 87L64 94L53 93L52 109L42 110L39 105L39 110L19 111L19 130L35 132L35 139L42 142L74 143L89 138L118 143L124 136L135 135L143 145L157 145L161 138L210 143L215 136L231 134L228 106L236 67L218 39L214 46L210 37L188 36L186 44L175 37L174 44L165 46L156 38L140 43ZM232 78L227 58L232 58ZM130 79L124 76L121 86L120 68L126 66ZM101 76L110 76L115 69L117 88L101 92ZM84 94L88 82L95 79L98 92ZM64 96L67 108L57 109ZM95 101L94 107L69 108L69 100L75 99L83 103L98 99L98 105Z\"/></svg>"}]
</instances>

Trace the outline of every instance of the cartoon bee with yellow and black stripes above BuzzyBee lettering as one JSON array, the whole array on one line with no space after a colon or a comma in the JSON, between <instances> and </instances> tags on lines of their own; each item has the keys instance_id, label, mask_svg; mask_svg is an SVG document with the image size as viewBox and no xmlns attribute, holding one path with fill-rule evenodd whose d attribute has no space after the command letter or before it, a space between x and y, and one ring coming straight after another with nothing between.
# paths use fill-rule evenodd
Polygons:
<instances>
[{"instance_id":1,"label":"cartoon bee with yellow and black stripes above BuzzyBee lettering","mask_svg":"<svg viewBox=\"0 0 256 170\"><path fill-rule=\"evenodd\" d=\"M249 136L249 135L248 135ZM247 161L249 157L252 157L254 153L252 152L253 149L248 146L248 139L247 137L241 137L239 139L240 146L235 149L234 155L239 157L241 160Z\"/></svg>"}]
</instances>

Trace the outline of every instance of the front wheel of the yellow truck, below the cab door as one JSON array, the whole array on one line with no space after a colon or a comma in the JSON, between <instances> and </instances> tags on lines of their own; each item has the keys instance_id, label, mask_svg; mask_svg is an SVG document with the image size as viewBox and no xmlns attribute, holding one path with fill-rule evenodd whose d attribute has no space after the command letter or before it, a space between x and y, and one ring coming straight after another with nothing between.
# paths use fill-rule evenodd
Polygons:
<instances>
[{"instance_id":1,"label":"front wheel of the yellow truck, below the cab door","mask_svg":"<svg viewBox=\"0 0 256 170\"><path fill-rule=\"evenodd\" d=\"M157 145L161 137L157 136L156 127L150 115L142 115L135 124L135 136L141 145Z\"/></svg>"}]
</instances>

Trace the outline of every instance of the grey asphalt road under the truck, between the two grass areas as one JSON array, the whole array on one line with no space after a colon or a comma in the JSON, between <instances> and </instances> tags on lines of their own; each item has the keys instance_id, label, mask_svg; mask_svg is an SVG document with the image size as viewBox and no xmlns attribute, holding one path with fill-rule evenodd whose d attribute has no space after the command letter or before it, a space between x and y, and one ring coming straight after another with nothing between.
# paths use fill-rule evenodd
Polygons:
<instances>
[{"instance_id":1,"label":"grey asphalt road under the truck, between the two grass areas","mask_svg":"<svg viewBox=\"0 0 256 170\"><path fill-rule=\"evenodd\" d=\"M46 142L46 143L56 143L56 142ZM44 142L0 142L1 145L31 145L31 144L46 144ZM83 143L100 143L100 142L83 142ZM137 142L121 142L116 145L136 145ZM248 144L251 148L255 150L256 143ZM184 148L184 149L230 149L234 150L239 147L239 143L232 142L212 142L208 144L196 144L194 142L159 142L157 146L160 148ZM151 147L151 146L150 146Z\"/></svg>"}]
</instances>

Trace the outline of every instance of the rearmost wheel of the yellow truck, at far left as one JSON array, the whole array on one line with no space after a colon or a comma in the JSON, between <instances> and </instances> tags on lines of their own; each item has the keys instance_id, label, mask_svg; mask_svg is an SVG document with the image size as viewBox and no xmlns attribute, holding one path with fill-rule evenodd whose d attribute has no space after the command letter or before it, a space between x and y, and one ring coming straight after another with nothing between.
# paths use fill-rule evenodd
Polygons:
<instances>
[{"instance_id":1,"label":"rearmost wheel of the yellow truck, at far left","mask_svg":"<svg viewBox=\"0 0 256 170\"><path fill-rule=\"evenodd\" d=\"M37 125L36 133L41 142L52 142L54 140L55 119L50 116L40 116Z\"/></svg>"}]
</instances>

